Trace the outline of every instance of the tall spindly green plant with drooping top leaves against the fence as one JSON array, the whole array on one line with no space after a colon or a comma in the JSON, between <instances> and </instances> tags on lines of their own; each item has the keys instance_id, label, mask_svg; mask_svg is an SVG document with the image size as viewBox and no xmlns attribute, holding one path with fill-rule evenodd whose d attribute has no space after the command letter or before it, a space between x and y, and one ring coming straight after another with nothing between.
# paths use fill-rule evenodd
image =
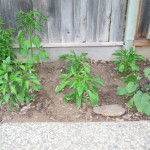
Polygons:
<instances>
[{"instance_id":1,"label":"tall spindly green plant with drooping top leaves against the fence","mask_svg":"<svg viewBox=\"0 0 150 150\"><path fill-rule=\"evenodd\" d=\"M46 17L41 12L35 10L28 13L21 10L18 12L16 19L20 21L18 24L18 43L21 55L23 57L30 55L31 63L40 62L40 59L47 59L48 54L41 46L42 39L36 34L44 31L41 20L45 20Z\"/></svg>"}]
</instances>

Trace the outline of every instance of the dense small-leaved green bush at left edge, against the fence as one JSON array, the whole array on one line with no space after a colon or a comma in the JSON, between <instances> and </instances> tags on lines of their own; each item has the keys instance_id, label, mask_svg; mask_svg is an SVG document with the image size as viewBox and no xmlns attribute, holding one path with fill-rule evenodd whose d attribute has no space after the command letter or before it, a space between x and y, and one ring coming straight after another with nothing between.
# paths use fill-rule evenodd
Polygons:
<instances>
[{"instance_id":1,"label":"dense small-leaved green bush at left edge, against the fence","mask_svg":"<svg viewBox=\"0 0 150 150\"><path fill-rule=\"evenodd\" d=\"M0 64L5 60L8 56L11 59L16 57L15 51L13 50L13 32L14 29L8 28L4 29L4 22L0 18Z\"/></svg>"}]
</instances>

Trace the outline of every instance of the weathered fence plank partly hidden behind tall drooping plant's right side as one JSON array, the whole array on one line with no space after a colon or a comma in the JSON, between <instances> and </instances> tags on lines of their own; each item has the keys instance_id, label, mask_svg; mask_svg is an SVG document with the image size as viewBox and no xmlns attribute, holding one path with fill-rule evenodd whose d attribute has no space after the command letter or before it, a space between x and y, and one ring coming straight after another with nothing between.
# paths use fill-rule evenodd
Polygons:
<instances>
[{"instance_id":1,"label":"weathered fence plank partly hidden behind tall drooping plant's right side","mask_svg":"<svg viewBox=\"0 0 150 150\"><path fill-rule=\"evenodd\" d=\"M48 17L48 0L32 0L33 9L42 12L46 17ZM44 20L41 22L44 26L44 32L40 33L43 42L48 42L48 22Z\"/></svg>"}]
</instances>

